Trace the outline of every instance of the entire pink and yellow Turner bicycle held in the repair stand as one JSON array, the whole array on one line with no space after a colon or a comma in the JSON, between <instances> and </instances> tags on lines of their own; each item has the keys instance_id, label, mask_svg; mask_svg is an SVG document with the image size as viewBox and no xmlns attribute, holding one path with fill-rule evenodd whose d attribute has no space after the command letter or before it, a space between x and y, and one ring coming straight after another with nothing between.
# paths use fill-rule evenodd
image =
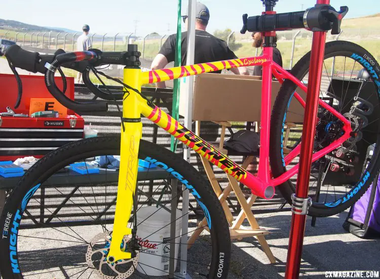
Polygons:
<instances>
[{"instance_id":1,"label":"entire pink and yellow Turner bicycle held in the repair stand","mask_svg":"<svg viewBox=\"0 0 380 279\"><path fill-rule=\"evenodd\" d=\"M158 185L157 189L160 188L162 190L162 188L164 188L165 191L174 191L176 186L172 185L172 187L170 187L168 180L173 177L176 178L185 186L185 190L193 195L192 203L195 205L192 207L193 212L196 212L195 207L199 205L203 212L201 218L205 217L207 219L209 234L204 235L204 238L208 240L208 243L211 243L211 247L206 248L206 250L199 248L200 250L197 251L198 254L195 255L194 253L190 255L191 260L194 261L198 259L198 263L192 261L188 261L188 263L198 265L196 268L189 268L189 272L191 272L194 277L208 276L212 278L226 278L230 261L230 235L228 224L218 199L213 191L211 191L209 184L191 165L169 150L141 139L141 114L176 137L189 148L192 148L197 153L206 157L212 164L249 187L253 194L265 199L270 199L274 195L274 187L278 186L283 196L291 203L291 194L294 193L295 188L292 181L294 181L298 170L297 156L299 155L301 144L299 129L302 127L302 123L297 123L296 127L291 130L291 137L286 145L283 144L284 126L287 123L287 117L291 113L294 113L294 111L290 110L293 102L297 102L298 106L305 107L305 101L302 99L299 90L307 92L306 84L311 52L303 56L293 69L288 72L272 61L272 47L274 47L272 38L276 30L297 28L324 31L332 30L333 34L338 34L340 32L340 21L347 13L348 8L341 7L341 10L336 12L330 5L317 4L315 7L306 11L275 14L273 7L276 2L276 0L264 1L266 12L261 16L250 18L248 18L247 15L243 16L244 25L242 33L248 30L261 31L264 34L265 47L263 49L263 55L260 57L142 72L139 68L140 53L137 51L136 45L128 45L128 51L121 53L107 53L99 50L73 53L61 52L61 54L56 55L54 58L30 53L17 46L11 47L6 54L11 67L13 67L13 69L14 67L20 67L31 71L41 70L45 72L45 81L49 91L66 107L82 112L105 111L107 109L107 103L93 102L81 104L66 98L54 82L54 73L60 70L60 66L83 71L84 82L95 96L115 102L116 100L123 100L123 116L121 139L118 137L98 137L68 144L46 155L21 178L17 187L12 190L7 200L0 221L3 228L6 228L3 229L3 237L0 240L0 251L3 255L3 261L0 262L2 274L5 274L7 278L22 278L22 274L29 276L35 275L41 278L41 276L44 276L42 274L48 273L51 274L50 276L60 275L62 274L61 269L64 266L69 266L65 269L66 277L81 277L82 275L83 277L90 277L94 270L96 270L96 274L102 278L126 278L131 275L139 277L145 275L149 277L141 266L140 273L135 272L139 264L136 259L143 255L145 251L141 249L141 241L146 241L146 238L150 236L148 235L145 239L138 240L138 235L136 234L138 233L136 215L138 215L137 212L141 208L137 208L141 195L137 200L136 193L140 191L140 186L142 186L142 188L145 186L144 184L136 186L137 158L141 158L148 162L149 165L154 164L168 173L167 177L162 180L163 182L160 182L161 184ZM324 43L325 42L321 42L321 44ZM344 58L344 60L342 60L344 62L341 62L339 57ZM323 203L313 203L309 210L309 215L319 217L330 216L341 212L357 201L369 187L371 178L375 177L379 165L379 148L377 148L379 125L376 123L379 118L376 118L375 115L379 113L379 110L375 108L380 101L380 70L378 63L366 50L348 42L327 43L324 58L326 60L333 58L335 67L337 67L337 65L338 67L335 69L332 67L329 69L330 72L328 72L326 64L324 63L327 76L329 78L331 77L331 79L329 79L330 86L328 90L326 90L326 92L321 91L319 100L320 107L313 155L313 169L318 169L319 171L318 178L313 181L317 181L317 186L325 192L325 201ZM332 89L332 84L335 80L332 79L332 76L334 73L336 74L338 70L341 71L341 65L344 64L343 79L341 80L343 84L345 84L345 77L347 77L345 66L348 59L353 60L354 64L352 65L352 62L351 64L348 63L350 64L349 71L351 71L350 79L348 83L346 82L346 92L343 86L341 96L339 97ZM123 82L111 78L95 68L96 66L105 64L125 65ZM143 84L168 81L169 79L214 70L253 65L263 66L263 102L261 104L260 127L261 160L259 161L257 176L248 173L226 155L219 153L212 145L184 128L168 113L164 112L161 108L140 94L141 85ZM354 72L355 76L360 73L359 68L364 70L361 71L362 73L359 78L355 79L355 81L360 81L360 87L357 92L353 94L351 91L349 92L349 85L354 83L354 79L352 78ZM120 94L112 94L109 90L106 90L106 92L99 90L90 81L90 69L103 85L104 83L101 81L99 75L119 82L124 88L123 92ZM364 72L368 73L367 77L364 76ZM282 87L271 116L270 92L272 74L282 83ZM369 97L360 98L359 94L364 93L364 88L365 92L372 89L371 95ZM19 97L21 98L21 96ZM346 104L346 97L351 105ZM364 139L364 137L366 139ZM350 173L350 166L353 164L359 165L363 160L363 154L358 153L357 150L359 150L359 147L360 149L367 146L372 147L374 146L373 143L376 143L376 145L373 150L372 160L363 172L352 175ZM269 148L269 146L272 146L272 148ZM288 152L286 156L284 150ZM64 169L71 163L83 161L87 169L89 158L99 155L118 154L120 154L122 158L118 179L119 184L113 182L112 184L107 181L105 183L97 182L97 185L100 184L103 187L95 187L94 190L95 181L92 181L94 176L89 175L87 172L86 177L88 177L90 182L87 184L90 184L90 187L86 186L87 184L83 184L83 182L83 185L75 185L75 187L69 188L69 190L72 189L71 191L67 190L67 192L60 187L54 187L54 185L49 187L49 179L53 179L53 176L58 171ZM334 193L328 194L330 185L323 185L323 182L330 173L335 173L333 171L334 168L331 167L333 164L337 165L338 169L341 170L341 172L337 172L336 174L340 174L340 176L343 177L342 180L346 179L345 181L349 181L349 185L344 187L345 191L340 190L338 192L335 191L335 186L333 186ZM107 174L107 172L105 174ZM105 176L107 177L107 175ZM348 178L349 180L347 180ZM149 180L149 178L147 178L147 180ZM351 181L355 182L351 183ZM117 198L115 197L113 201L107 200L108 184L112 184L113 195L117 194ZM117 185L119 185L119 187L117 187ZM82 191L88 191L82 193L80 188ZM105 189L105 193L99 192L101 189ZM80 193L78 194L77 191ZM161 196L167 195L165 191L162 191ZM63 201L63 206L67 206L68 201L70 201L70 205L79 210L77 215L88 217L87 223L93 225L91 231L88 232L88 234L93 236L90 241L87 241L87 238L85 239L79 235L78 230L81 230L81 227L77 230L70 227L70 225L78 226L80 224L67 219L68 216L60 213L63 206L54 208L54 204L51 201L45 204L45 206L42 205L42 197L45 196L47 192L52 193L59 198L60 201ZM174 195L174 197L169 197L166 204L162 204L157 200L155 200L154 203L158 202L157 204L160 204L161 207L158 209L160 210L164 205L171 203L173 200L180 199L180 195L181 193L178 193ZM327 198L329 198L329 201L327 201ZM113 212L107 216L107 210L113 206L115 201L117 202L114 213L115 218L113 220ZM146 201L146 204L151 203L149 198ZM132 205L133 214L131 215ZM86 209L88 209L88 211L82 209L81 206L87 206ZM99 207L101 209L104 208L104 211L100 212ZM50 208L52 209L50 210ZM44 212L41 210L44 210ZM90 210L92 210L92 212L89 212ZM48 211L49 216L45 216L46 211ZM92 218L90 214L98 216L95 219ZM131 218L128 218L128 216L131 216ZM55 222L52 222L52 220L55 220ZM110 226L107 228L107 224L110 223L113 223L113 228ZM101 225L102 231L100 233L95 229L95 225ZM133 226L133 228L129 226ZM22 230L23 234L20 234L19 230L24 227L35 228L33 232L38 233L39 236L35 234L26 235L27 230ZM58 230L57 227L59 227L60 230ZM7 233L5 233L5 231ZM53 238L55 233L63 235L62 238ZM20 236L26 238L26 243L23 242L25 238ZM64 238L67 236L70 240ZM76 253L87 251L85 254L86 259L73 259L68 257L67 259L63 259L67 264L60 266L61 269L57 270L51 268L52 263L50 261L53 261L51 259L53 256L57 257L57 248L48 249L46 253L41 254L40 257L45 257L43 261L38 258L39 256L33 258L33 255L38 255L39 253L28 253L28 237L32 237L31 239L33 240L39 240L41 238L43 240L41 241L41 246L50 247L53 245L62 245L63 248L59 251L62 251L61 253L66 252L66 257L68 257L68 251L74 251L74 257L77 256ZM202 241L203 240L201 240L201 242ZM66 247L66 245L63 244L65 242L74 243L75 246ZM77 245L77 243L79 243L79 245ZM163 244L164 242L160 242L157 243L157 246ZM202 242L200 246L204 244L205 242ZM20 251L21 246L24 250L23 252ZM92 250L94 247L96 248L95 251ZM150 248L151 247L152 245L150 244ZM65 250L65 248L67 249ZM81 251L81 249L83 251ZM206 253L210 251L211 255L206 255ZM96 253L99 255L97 258L94 258L93 256ZM173 259L173 257L163 257L163 259L165 258ZM176 257L174 258L177 259ZM85 263L80 265L84 269L81 269L79 272L77 272L79 265L76 264L78 260L82 260L82 262ZM35 270L33 261L37 261L37 263L42 265L43 273L33 273L33 270ZM55 264L55 262L53 263ZM123 266L123 268L119 268L119 266ZM91 269L89 269L89 267L91 267ZM103 270L103 267L106 270ZM144 267L148 268L146 264ZM182 275L175 275L173 273L175 268L176 266L172 266L171 271L167 269L158 271L164 271L166 272L165 274L180 278Z\"/></svg>"}]
</instances>

